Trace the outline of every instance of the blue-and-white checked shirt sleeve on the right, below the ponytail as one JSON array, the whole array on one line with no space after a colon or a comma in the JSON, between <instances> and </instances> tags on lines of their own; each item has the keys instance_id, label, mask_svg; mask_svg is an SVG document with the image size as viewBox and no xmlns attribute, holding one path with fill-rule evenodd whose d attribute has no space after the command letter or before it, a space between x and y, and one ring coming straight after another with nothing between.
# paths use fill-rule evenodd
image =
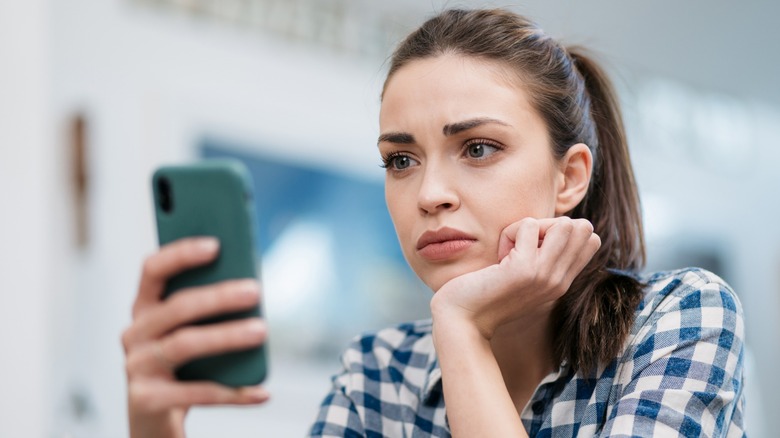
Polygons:
<instances>
[{"instance_id":1,"label":"blue-and-white checked shirt sleeve on the right, below the ponytail","mask_svg":"<svg viewBox=\"0 0 780 438\"><path fill-rule=\"evenodd\" d=\"M712 274L688 275L636 335L602 436L744 436L739 300Z\"/></svg>"}]
</instances>

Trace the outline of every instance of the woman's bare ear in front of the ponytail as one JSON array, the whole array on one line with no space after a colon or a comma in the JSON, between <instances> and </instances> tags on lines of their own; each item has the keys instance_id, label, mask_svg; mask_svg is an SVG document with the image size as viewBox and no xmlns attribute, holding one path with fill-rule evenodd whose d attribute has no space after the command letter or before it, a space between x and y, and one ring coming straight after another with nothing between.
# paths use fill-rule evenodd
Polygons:
<instances>
[{"instance_id":1,"label":"woman's bare ear in front of the ponytail","mask_svg":"<svg viewBox=\"0 0 780 438\"><path fill-rule=\"evenodd\" d=\"M593 155L587 145L577 143L566 151L559 162L556 216L572 211L585 198L592 170Z\"/></svg>"}]
</instances>

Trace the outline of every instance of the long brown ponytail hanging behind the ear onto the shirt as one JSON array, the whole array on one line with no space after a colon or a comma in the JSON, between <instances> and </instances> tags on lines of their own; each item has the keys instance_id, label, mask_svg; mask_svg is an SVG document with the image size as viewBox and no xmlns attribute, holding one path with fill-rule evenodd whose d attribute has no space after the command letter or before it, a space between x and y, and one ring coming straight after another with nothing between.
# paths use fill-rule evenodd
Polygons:
<instances>
[{"instance_id":1,"label":"long brown ponytail hanging behind the ear onto the shirt","mask_svg":"<svg viewBox=\"0 0 780 438\"><path fill-rule=\"evenodd\" d=\"M558 303L556 356L585 372L609 363L623 348L644 285L636 272L645 263L639 194L614 89L582 49L569 49L582 77L595 125L591 186L571 212L593 223L601 248ZM591 146L593 147L593 146Z\"/></svg>"}]
</instances>

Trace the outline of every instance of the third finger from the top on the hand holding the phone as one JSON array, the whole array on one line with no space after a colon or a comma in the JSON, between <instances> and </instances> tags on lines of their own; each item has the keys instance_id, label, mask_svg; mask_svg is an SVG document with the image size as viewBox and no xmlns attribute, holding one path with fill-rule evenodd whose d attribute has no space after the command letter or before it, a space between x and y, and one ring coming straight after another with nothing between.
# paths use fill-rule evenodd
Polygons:
<instances>
[{"instance_id":1,"label":"third finger from the top on the hand holding the phone","mask_svg":"<svg viewBox=\"0 0 780 438\"><path fill-rule=\"evenodd\" d=\"M158 342L165 358L178 366L200 357L256 347L265 341L266 334L267 327L262 319L242 318L183 327ZM147 354L156 353L148 351Z\"/></svg>"}]
</instances>

